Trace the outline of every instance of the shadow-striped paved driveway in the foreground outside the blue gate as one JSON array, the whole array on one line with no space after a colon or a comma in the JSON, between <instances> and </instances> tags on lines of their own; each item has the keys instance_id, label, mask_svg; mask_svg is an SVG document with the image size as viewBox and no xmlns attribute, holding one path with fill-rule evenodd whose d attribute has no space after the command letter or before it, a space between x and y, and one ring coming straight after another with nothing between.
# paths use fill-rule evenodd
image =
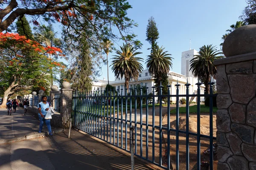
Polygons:
<instances>
[{"instance_id":1,"label":"shadow-striped paved driveway in the foreground outside the blue gate","mask_svg":"<svg viewBox=\"0 0 256 170\"><path fill-rule=\"evenodd\" d=\"M71 131L0 144L1 170L131 170L131 157L88 134ZM157 170L135 159L135 170Z\"/></svg>"}]
</instances>

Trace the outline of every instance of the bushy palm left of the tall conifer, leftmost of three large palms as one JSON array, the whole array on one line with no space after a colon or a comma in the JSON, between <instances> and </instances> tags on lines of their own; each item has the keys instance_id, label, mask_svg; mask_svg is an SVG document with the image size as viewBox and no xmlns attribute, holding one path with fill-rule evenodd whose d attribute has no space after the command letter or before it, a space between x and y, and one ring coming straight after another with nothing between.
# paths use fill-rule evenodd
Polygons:
<instances>
[{"instance_id":1,"label":"bushy palm left of the tall conifer, leftmost of three large palms","mask_svg":"<svg viewBox=\"0 0 256 170\"><path fill-rule=\"evenodd\" d=\"M116 77L125 78L125 87L129 88L129 81L138 80L139 74L143 71L143 65L140 63L143 58L136 57L141 52L136 52L138 48L134 48L130 44L123 44L121 50L116 50L113 61L111 62L111 70Z\"/></svg>"}]
</instances>

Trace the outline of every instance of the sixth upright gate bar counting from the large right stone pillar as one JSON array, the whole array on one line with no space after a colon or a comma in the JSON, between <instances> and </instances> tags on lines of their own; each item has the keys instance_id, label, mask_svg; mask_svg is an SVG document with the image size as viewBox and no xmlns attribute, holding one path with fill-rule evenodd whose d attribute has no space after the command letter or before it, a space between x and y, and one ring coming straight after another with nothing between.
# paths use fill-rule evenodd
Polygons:
<instances>
[{"instance_id":1,"label":"sixth upright gate bar counting from the large right stone pillar","mask_svg":"<svg viewBox=\"0 0 256 170\"><path fill-rule=\"evenodd\" d=\"M159 91L158 97L159 97L159 164L162 166L162 95L163 95L163 86L162 82L160 83L159 86Z\"/></svg>"}]
</instances>

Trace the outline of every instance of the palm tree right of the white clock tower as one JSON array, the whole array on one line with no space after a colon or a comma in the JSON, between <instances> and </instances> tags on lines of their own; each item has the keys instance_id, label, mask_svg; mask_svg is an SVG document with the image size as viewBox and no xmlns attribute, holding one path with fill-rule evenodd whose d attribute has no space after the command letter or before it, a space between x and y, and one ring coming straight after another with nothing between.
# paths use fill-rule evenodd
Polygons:
<instances>
[{"instance_id":1,"label":"palm tree right of the white clock tower","mask_svg":"<svg viewBox=\"0 0 256 170\"><path fill-rule=\"evenodd\" d=\"M204 82L207 94L209 94L208 83L210 82L211 77L215 79L217 72L213 61L222 58L223 56L221 56L221 54L223 53L220 52L220 50L217 50L216 46L212 46L212 44L207 46L204 45L200 48L198 55L194 55L195 58L190 61L189 71L192 71L192 74L195 77L198 77Z\"/></svg>"}]
</instances>

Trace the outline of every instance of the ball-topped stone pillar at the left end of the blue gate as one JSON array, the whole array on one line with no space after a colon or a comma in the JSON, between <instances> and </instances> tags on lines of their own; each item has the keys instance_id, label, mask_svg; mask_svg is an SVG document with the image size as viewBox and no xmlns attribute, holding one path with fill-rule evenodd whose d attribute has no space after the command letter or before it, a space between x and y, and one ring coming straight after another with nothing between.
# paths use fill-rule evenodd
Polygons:
<instances>
[{"instance_id":1,"label":"ball-topped stone pillar at the left end of the blue gate","mask_svg":"<svg viewBox=\"0 0 256 170\"><path fill-rule=\"evenodd\" d=\"M69 82L62 83L61 91L61 118L62 118L62 127L68 128L69 121L72 113L72 92L73 89L70 88Z\"/></svg>"}]
</instances>

